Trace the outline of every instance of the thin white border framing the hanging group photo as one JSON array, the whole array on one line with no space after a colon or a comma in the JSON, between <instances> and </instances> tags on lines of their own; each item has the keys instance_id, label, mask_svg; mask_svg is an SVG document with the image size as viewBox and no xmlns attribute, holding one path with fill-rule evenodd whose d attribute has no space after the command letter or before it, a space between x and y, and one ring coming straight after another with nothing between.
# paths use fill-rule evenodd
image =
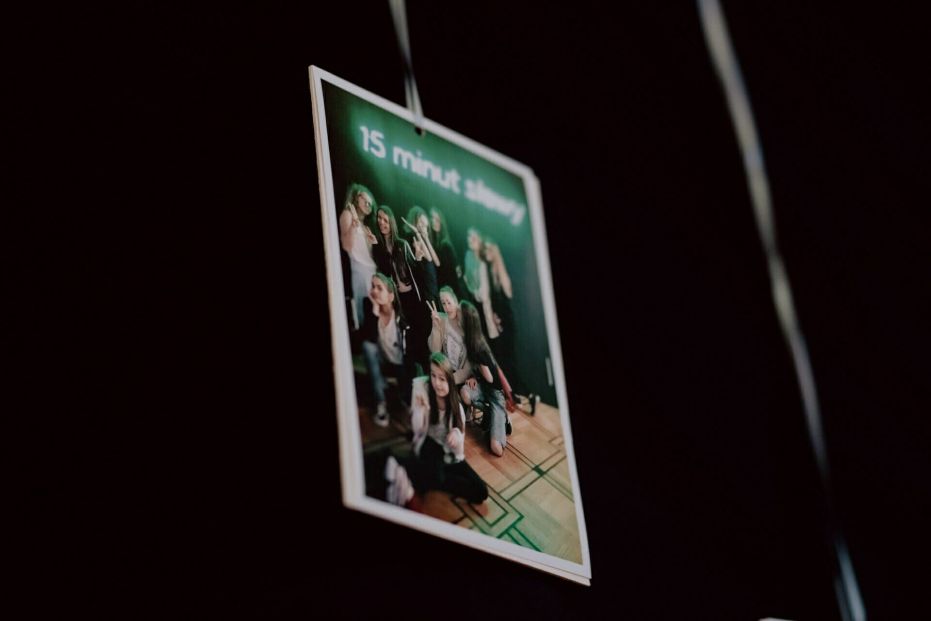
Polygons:
<instances>
[{"instance_id":1,"label":"thin white border framing the hanging group photo","mask_svg":"<svg viewBox=\"0 0 931 621\"><path fill-rule=\"evenodd\" d=\"M517 544L497 539L485 533L477 533L455 524L438 520L400 506L367 496L365 493L365 473L363 467L362 435L358 424L358 402L356 399L356 382L349 354L349 325L341 300L343 291L343 264L340 258L339 227L336 219L336 198L332 187L332 168L330 160L330 140L327 134L326 111L323 101L323 82L342 88L357 97L368 101L385 111L413 123L410 110L397 103L387 101L363 88L346 82L319 67L311 65L310 86L314 111L314 128L317 137L317 172L319 175L320 204L323 212L324 253L327 263L327 287L330 300L330 318L332 331L333 371L336 383L336 412L339 430L340 471L342 475L344 505L373 516L390 520L418 531L431 533L457 543L491 552L506 559L529 565L533 568L558 575L567 580L589 585L591 565L588 556L588 537L585 514L582 509L582 494L579 489L578 474L575 467L575 450L573 447L572 428L569 425L569 401L566 398L565 377L562 367L559 328L554 303L552 275L549 268L549 249L546 244L546 229L543 217L543 204L540 197L540 182L533 170L501 155L486 146L472 141L451 129L424 119L424 129L432 134L452 142L475 155L492 162L492 164L513 172L524 183L528 209L533 230L533 250L538 265L540 290L543 297L546 318L546 337L552 361L553 380L560 403L560 422L564 438L564 447L569 458L569 473L573 485L575 516L578 520L579 541L582 547L582 563L563 560L558 557L520 547Z\"/></svg>"}]
</instances>

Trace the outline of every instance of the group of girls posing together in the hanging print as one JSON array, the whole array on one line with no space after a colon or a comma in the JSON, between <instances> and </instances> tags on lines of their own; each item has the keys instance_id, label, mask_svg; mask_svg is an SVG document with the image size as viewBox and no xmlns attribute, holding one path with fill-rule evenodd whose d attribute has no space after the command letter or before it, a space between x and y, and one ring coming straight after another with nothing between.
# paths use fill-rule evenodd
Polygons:
<instances>
[{"instance_id":1,"label":"group of girls posing together in the hanging print","mask_svg":"<svg viewBox=\"0 0 931 621\"><path fill-rule=\"evenodd\" d=\"M451 492L478 497L461 457L466 423L479 425L488 450L500 456L511 432L508 410L533 414L537 402L513 364L514 291L501 250L469 228L460 263L439 209L412 207L396 216L358 183L346 192L339 230L350 323L360 332L375 424L389 424L385 375L393 375L403 415L411 416L414 452L431 465L416 469L419 487L452 485ZM386 473L394 473L392 463Z\"/></svg>"}]
</instances>

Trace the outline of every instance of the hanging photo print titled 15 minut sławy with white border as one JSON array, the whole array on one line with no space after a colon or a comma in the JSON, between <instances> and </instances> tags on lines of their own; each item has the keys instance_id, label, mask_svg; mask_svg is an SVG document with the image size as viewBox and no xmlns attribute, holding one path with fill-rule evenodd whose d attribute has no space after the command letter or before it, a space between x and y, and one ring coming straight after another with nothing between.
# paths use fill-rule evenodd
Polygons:
<instances>
[{"instance_id":1,"label":"hanging photo print titled 15 minut s\u0142awy with white border","mask_svg":"<svg viewBox=\"0 0 931 621\"><path fill-rule=\"evenodd\" d=\"M310 83L345 505L589 584L533 171Z\"/></svg>"}]
</instances>

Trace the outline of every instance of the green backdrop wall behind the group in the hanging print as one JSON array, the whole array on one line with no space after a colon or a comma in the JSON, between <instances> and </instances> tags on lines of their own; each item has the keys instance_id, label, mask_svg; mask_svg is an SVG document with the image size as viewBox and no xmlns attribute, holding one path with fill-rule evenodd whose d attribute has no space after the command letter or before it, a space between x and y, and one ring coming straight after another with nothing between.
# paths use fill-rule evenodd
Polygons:
<instances>
[{"instance_id":1,"label":"green backdrop wall behind the group in the hanging print","mask_svg":"<svg viewBox=\"0 0 931 621\"><path fill-rule=\"evenodd\" d=\"M515 352L513 364L523 376L529 389L538 393L547 403L557 405L556 390L549 385L546 358L546 323L539 275L533 253L533 234L530 214L525 213L518 225L506 215L486 208L466 198L465 180L484 182L496 194L526 206L527 197L523 180L514 173L501 169L492 162L433 134L418 135L411 123L382 108L365 101L342 88L323 83L323 96L330 138L330 158L337 209L342 209L346 189L351 183L368 186L375 202L391 207L398 216L398 228L403 224L399 216L419 205L424 209L437 207L450 226L452 243L464 264L466 231L470 226L479 229L483 236L491 237L500 247L507 272L511 277L514 298L511 308L515 320ZM379 158L370 142L370 151L364 149L364 132L380 131L385 135L385 157ZM410 169L393 161L393 147L408 152L420 152L424 159L442 167L456 169L463 178L462 194L456 194Z\"/></svg>"}]
</instances>

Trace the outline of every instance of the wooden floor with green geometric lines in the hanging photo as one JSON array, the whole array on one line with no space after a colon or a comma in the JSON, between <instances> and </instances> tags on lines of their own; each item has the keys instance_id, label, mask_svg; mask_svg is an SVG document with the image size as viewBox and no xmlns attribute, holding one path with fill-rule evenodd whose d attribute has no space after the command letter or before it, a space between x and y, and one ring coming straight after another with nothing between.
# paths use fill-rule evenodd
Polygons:
<instances>
[{"instance_id":1,"label":"wooden floor with green geometric lines in the hanging photo","mask_svg":"<svg viewBox=\"0 0 931 621\"><path fill-rule=\"evenodd\" d=\"M368 379L364 371L357 372L360 392L366 392ZM370 399L359 396L360 403ZM540 403L534 416L523 412L510 416L513 433L501 457L489 452L477 426L466 425L466 462L488 484L488 500L472 505L449 493L429 492L423 512L560 559L582 562L560 411ZM389 447L397 454L409 453L411 432L404 418L394 410L391 425L381 428L372 423L371 408L362 407L359 424L364 451Z\"/></svg>"}]
</instances>

